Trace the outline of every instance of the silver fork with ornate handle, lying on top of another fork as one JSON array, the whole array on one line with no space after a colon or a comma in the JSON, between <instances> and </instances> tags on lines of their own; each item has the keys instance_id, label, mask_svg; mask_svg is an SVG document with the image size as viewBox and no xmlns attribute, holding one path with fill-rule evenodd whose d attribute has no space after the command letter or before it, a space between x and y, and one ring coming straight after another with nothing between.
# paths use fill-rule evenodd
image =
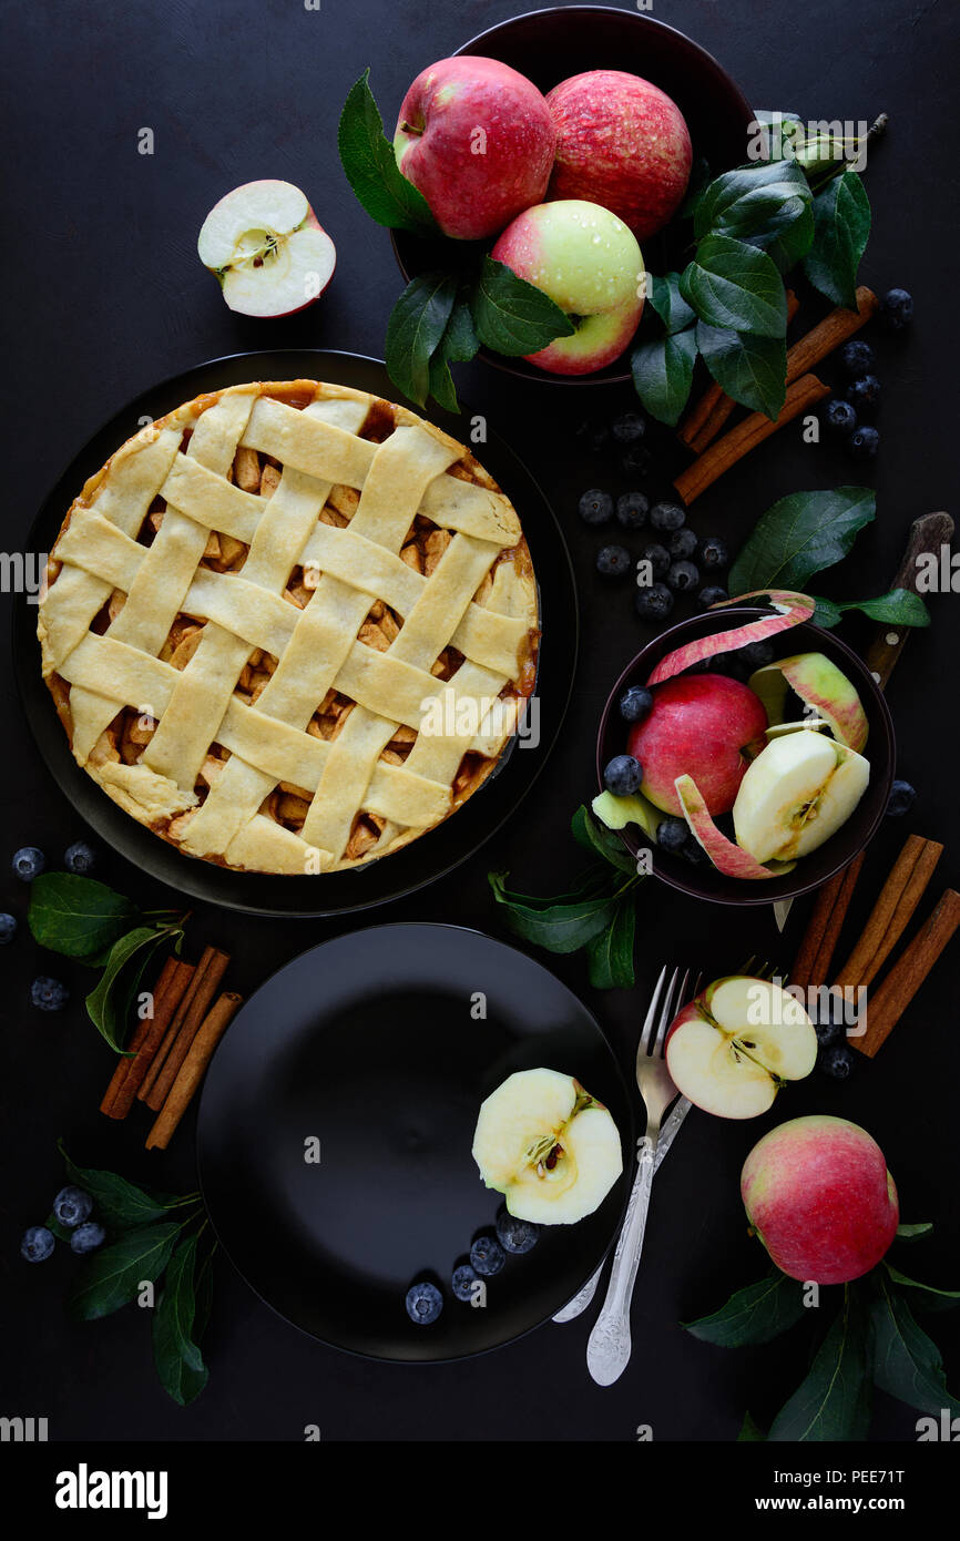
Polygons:
<instances>
[{"instance_id":1,"label":"silver fork with ornate handle, lying on top of another fork","mask_svg":"<svg viewBox=\"0 0 960 1541\"><path fill-rule=\"evenodd\" d=\"M639 1268L647 1210L650 1208L660 1125L676 1096L676 1086L670 1080L664 1060L664 1040L667 1028L687 999L690 971L687 969L680 980L680 969L673 969L664 991L666 974L667 971L663 968L636 1049L636 1085L647 1110L647 1133L636 1145L636 1177L627 1202L624 1227L613 1253L607 1298L587 1342L587 1368L598 1385L612 1385L613 1381L619 1379L630 1359L630 1301Z\"/></svg>"}]
</instances>

